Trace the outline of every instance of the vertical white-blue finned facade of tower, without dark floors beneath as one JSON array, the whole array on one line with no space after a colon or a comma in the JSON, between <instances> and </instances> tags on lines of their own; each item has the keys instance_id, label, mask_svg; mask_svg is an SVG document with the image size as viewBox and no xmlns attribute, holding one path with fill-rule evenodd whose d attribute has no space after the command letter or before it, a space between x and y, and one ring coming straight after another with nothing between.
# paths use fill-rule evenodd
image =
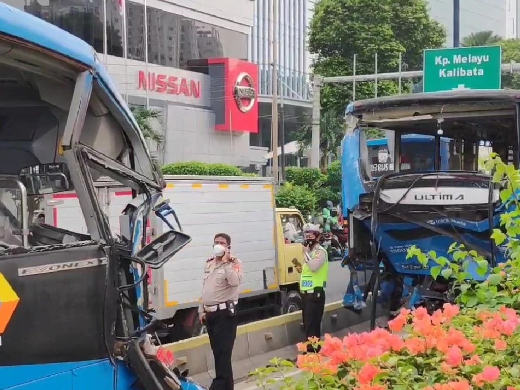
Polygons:
<instances>
[{"instance_id":1,"label":"vertical white-blue finned facade of tower, without dark floors beneath","mask_svg":"<svg viewBox=\"0 0 520 390\"><path fill-rule=\"evenodd\" d=\"M250 59L259 65L259 94L272 95L272 0L256 0ZM278 76L283 97L310 100L307 53L308 0L278 0Z\"/></svg>"}]
</instances>

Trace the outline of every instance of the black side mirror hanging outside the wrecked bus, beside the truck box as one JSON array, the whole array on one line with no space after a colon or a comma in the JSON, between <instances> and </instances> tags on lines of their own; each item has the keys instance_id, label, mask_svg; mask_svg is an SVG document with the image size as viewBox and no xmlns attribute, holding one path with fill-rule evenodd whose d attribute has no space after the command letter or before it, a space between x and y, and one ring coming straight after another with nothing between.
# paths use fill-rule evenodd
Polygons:
<instances>
[{"instance_id":1,"label":"black side mirror hanging outside the wrecked bus, beside the truck box","mask_svg":"<svg viewBox=\"0 0 520 390\"><path fill-rule=\"evenodd\" d=\"M183 249L191 237L186 233L168 230L150 242L134 256L144 261L152 269L161 268L174 254Z\"/></svg>"}]
</instances>

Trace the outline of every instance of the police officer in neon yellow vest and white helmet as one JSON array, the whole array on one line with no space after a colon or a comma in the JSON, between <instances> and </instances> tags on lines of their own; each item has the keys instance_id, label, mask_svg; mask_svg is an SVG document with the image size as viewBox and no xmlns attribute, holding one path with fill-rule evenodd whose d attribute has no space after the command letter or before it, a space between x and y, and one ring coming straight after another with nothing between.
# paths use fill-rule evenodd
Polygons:
<instances>
[{"instance_id":1,"label":"police officer in neon yellow vest and white helmet","mask_svg":"<svg viewBox=\"0 0 520 390\"><path fill-rule=\"evenodd\" d=\"M296 267L300 276L300 292L302 293L302 313L305 335L321 336L321 317L325 306L325 287L329 277L329 258L327 251L320 245L321 231L318 225L305 224L305 264ZM317 348L319 350L319 347ZM310 344L308 352L315 352ZM318 351L316 351L318 352Z\"/></svg>"}]
</instances>

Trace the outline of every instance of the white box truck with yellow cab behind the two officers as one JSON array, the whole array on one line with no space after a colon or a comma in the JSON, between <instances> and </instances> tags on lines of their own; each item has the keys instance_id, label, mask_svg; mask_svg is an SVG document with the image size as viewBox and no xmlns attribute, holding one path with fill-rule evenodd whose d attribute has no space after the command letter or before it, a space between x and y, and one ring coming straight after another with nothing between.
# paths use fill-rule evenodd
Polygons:
<instances>
[{"instance_id":1,"label":"white box truck with yellow cab behind the two officers","mask_svg":"<svg viewBox=\"0 0 520 390\"><path fill-rule=\"evenodd\" d=\"M164 198L170 200L183 231L192 237L163 268L149 273L149 306L172 325L171 341L204 331L197 307L204 264L219 232L231 237L231 252L244 265L238 305L244 320L301 308L299 274L293 262L303 263L302 241L284 231L289 223L301 230L304 219L297 210L276 209L270 178L166 175L164 179ZM95 186L112 231L118 233L119 216L132 200L132 191L108 178L100 178ZM49 196L45 218L54 226L87 233L79 224L83 218L73 192ZM148 234L157 236L166 228L154 217Z\"/></svg>"}]
</instances>

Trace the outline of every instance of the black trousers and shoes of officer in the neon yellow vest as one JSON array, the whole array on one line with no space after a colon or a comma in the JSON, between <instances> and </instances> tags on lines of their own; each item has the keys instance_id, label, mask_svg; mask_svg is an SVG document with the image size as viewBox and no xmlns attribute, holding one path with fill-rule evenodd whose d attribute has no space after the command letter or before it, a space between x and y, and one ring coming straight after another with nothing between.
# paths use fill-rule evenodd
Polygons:
<instances>
[{"instance_id":1,"label":"black trousers and shoes of officer in the neon yellow vest","mask_svg":"<svg viewBox=\"0 0 520 390\"><path fill-rule=\"evenodd\" d=\"M303 327L305 329L305 336L307 340L309 337L321 337L321 318L323 317L323 310L325 308L325 290L321 287L314 289L314 292L302 293L302 316ZM307 352L319 352L307 345Z\"/></svg>"}]
</instances>

